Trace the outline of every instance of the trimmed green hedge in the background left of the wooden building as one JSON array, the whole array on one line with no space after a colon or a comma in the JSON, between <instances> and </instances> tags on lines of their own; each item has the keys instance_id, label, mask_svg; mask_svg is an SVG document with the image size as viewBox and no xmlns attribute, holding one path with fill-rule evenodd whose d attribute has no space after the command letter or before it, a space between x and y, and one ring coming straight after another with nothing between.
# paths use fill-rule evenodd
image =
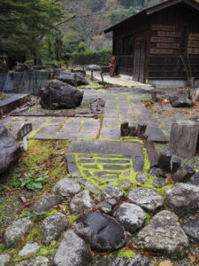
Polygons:
<instances>
[{"instance_id":1,"label":"trimmed green hedge in the background left of the wooden building","mask_svg":"<svg viewBox=\"0 0 199 266\"><path fill-rule=\"evenodd\" d=\"M97 64L101 66L109 65L111 61L111 50L104 49L100 51L88 50L85 52L75 52L72 56L72 62L76 65Z\"/></svg>"}]
</instances>

